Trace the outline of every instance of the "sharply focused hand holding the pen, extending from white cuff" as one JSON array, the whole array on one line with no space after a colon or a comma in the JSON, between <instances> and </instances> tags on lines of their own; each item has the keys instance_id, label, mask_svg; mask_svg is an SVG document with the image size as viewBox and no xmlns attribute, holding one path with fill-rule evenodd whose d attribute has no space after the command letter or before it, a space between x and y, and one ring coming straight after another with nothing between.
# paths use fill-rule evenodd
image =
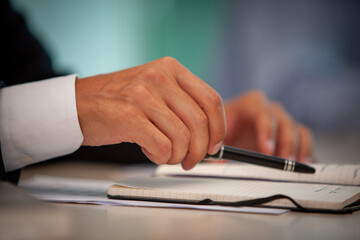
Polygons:
<instances>
[{"instance_id":1,"label":"sharply focused hand holding the pen, extending from white cuff","mask_svg":"<svg viewBox=\"0 0 360 240\"><path fill-rule=\"evenodd\" d=\"M83 145L137 143L157 164L191 169L226 133L219 94L175 59L76 81Z\"/></svg>"}]
</instances>

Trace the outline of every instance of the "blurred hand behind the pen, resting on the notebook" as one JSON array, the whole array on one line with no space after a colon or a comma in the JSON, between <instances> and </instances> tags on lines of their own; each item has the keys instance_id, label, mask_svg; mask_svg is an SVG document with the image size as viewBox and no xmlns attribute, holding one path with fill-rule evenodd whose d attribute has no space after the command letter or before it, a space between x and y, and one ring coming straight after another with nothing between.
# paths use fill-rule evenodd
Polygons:
<instances>
[{"instance_id":1,"label":"blurred hand behind the pen, resting on the notebook","mask_svg":"<svg viewBox=\"0 0 360 240\"><path fill-rule=\"evenodd\" d=\"M225 104L224 144L300 162L312 161L309 129L294 122L280 103L251 91Z\"/></svg>"}]
</instances>

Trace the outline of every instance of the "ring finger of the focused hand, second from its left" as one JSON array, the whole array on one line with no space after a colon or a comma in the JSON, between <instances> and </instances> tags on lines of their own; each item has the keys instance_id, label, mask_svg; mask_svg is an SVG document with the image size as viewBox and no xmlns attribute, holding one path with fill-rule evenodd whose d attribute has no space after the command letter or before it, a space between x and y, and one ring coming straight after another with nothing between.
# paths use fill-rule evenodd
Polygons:
<instances>
[{"instance_id":1,"label":"ring finger of the focused hand, second from its left","mask_svg":"<svg viewBox=\"0 0 360 240\"><path fill-rule=\"evenodd\" d=\"M180 163L187 154L190 142L190 132L186 125L156 91L151 91L142 81L130 84L123 92L124 96L131 97L132 104L171 141L172 154L166 163Z\"/></svg>"}]
</instances>

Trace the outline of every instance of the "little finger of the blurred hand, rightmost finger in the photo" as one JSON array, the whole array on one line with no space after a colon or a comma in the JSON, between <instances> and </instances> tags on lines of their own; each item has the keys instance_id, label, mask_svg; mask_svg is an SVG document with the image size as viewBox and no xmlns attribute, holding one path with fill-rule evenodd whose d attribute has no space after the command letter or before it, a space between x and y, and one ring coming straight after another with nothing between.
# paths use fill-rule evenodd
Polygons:
<instances>
[{"instance_id":1,"label":"little finger of the blurred hand, rightmost finger in the photo","mask_svg":"<svg viewBox=\"0 0 360 240\"><path fill-rule=\"evenodd\" d=\"M298 126L299 132L299 151L297 155L297 160L299 162L311 163L312 160L312 137L310 130L300 125Z\"/></svg>"}]
</instances>

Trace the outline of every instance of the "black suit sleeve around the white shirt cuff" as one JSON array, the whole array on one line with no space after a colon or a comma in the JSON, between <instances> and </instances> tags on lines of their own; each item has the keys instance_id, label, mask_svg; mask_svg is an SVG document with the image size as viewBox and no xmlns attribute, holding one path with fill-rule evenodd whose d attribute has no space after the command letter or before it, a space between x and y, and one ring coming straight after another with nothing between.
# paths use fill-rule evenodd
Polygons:
<instances>
[{"instance_id":1,"label":"black suit sleeve around the white shirt cuff","mask_svg":"<svg viewBox=\"0 0 360 240\"><path fill-rule=\"evenodd\" d=\"M30 34L24 18L15 12L8 0L0 1L2 31L0 87L36 81L56 74L41 44ZM17 183L20 170L6 173L0 149L0 179Z\"/></svg>"}]
</instances>

